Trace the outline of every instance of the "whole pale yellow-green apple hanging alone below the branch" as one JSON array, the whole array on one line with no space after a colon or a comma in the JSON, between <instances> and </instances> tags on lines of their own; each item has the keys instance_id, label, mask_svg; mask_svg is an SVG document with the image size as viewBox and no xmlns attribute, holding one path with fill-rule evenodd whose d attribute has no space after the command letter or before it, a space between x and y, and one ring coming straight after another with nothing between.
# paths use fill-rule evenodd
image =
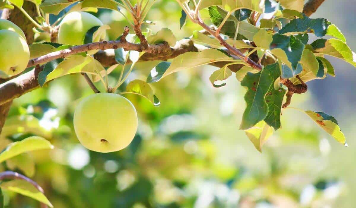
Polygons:
<instances>
[{"instance_id":1,"label":"whole pale yellow-green apple hanging alone below the branch","mask_svg":"<svg viewBox=\"0 0 356 208\"><path fill-rule=\"evenodd\" d=\"M137 131L132 103L114 93L85 97L74 112L74 130L80 143L95 152L115 152L127 147Z\"/></svg>"}]
</instances>

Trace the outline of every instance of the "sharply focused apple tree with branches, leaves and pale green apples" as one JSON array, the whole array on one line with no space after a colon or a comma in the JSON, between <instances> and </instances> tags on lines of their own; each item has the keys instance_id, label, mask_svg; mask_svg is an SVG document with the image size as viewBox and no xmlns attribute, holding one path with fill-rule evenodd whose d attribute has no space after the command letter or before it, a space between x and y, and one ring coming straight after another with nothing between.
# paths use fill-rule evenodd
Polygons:
<instances>
[{"instance_id":1,"label":"sharply focused apple tree with branches, leaves and pale green apples","mask_svg":"<svg viewBox=\"0 0 356 208\"><path fill-rule=\"evenodd\" d=\"M143 30L159 21L146 18L155 0L1 1L0 132L9 122L6 118L14 99L46 88L52 80L77 74L94 92L75 110L77 138L92 151L119 151L135 137L140 120L134 105L124 96L142 96L153 106L160 106L151 83L178 71L211 65L217 67L209 77L212 86L224 87L225 80L235 76L235 81L246 88L239 128L258 151L281 128L285 109L305 113L347 146L333 116L289 107L295 93L307 92L309 81L335 76L337 67L330 63L329 56L356 66L356 54L337 26L325 18L310 17L323 0L309 0L305 5L303 0L173 2L181 9L177 19L180 27L192 24L199 28L182 40L177 40L169 28ZM110 26L93 15L98 8L124 16L128 24L121 35L109 39ZM309 41L311 35L318 39ZM150 67L144 80L127 83L135 66L148 61L159 62ZM115 71L119 76L112 84L108 76ZM45 138L38 134L9 144L0 153L0 161L53 148ZM43 207L52 206L43 189L30 178L5 171L0 179L18 179L1 187L37 199Z\"/></svg>"}]
</instances>

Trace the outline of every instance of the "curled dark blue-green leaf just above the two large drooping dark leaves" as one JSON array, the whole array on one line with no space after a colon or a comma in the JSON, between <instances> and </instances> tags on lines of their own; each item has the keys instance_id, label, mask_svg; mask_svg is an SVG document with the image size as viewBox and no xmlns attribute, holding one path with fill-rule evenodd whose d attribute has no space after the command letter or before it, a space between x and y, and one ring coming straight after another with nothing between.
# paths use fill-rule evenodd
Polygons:
<instances>
[{"instance_id":1,"label":"curled dark blue-green leaf just above the two large drooping dark leaves","mask_svg":"<svg viewBox=\"0 0 356 208\"><path fill-rule=\"evenodd\" d=\"M286 54L288 61L290 62L292 69L294 71L299 71L298 64L300 59L302 58L304 44L302 41L297 39L294 36L285 36L280 34L274 34L273 41L271 42L270 49L272 49L272 53L275 54L278 59L280 59L281 54L274 51L275 49L282 49L284 54ZM284 58L281 59L284 63ZM288 63L286 63L288 65ZM297 74L295 72L295 74Z\"/></svg>"}]
</instances>

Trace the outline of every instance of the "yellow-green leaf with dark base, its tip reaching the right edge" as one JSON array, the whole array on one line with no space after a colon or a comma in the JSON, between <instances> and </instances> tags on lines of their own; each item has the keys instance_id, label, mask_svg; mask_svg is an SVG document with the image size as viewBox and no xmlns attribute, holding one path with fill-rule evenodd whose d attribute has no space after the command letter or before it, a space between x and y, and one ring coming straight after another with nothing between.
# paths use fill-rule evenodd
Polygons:
<instances>
[{"instance_id":1,"label":"yellow-green leaf with dark base, its tip reaching the right edge","mask_svg":"<svg viewBox=\"0 0 356 208\"><path fill-rule=\"evenodd\" d=\"M356 67L355 52L351 51L349 46L339 39L318 39L311 45L313 46L315 53L334 56Z\"/></svg>"}]
</instances>

